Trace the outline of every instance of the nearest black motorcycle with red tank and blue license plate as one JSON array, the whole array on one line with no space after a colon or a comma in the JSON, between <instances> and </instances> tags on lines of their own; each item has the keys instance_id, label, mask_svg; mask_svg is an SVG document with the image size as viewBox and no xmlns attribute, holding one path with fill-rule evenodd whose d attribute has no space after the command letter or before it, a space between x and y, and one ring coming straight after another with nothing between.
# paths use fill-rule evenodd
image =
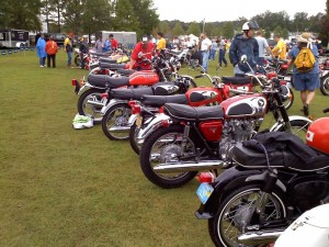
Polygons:
<instances>
[{"instance_id":1,"label":"nearest black motorcycle with red tank and blue license plate","mask_svg":"<svg viewBox=\"0 0 329 247\"><path fill-rule=\"evenodd\" d=\"M236 166L215 181L200 176L195 215L208 220L216 246L266 246L302 213L329 202L328 126L329 117L311 123L306 144L288 133L259 134L232 148Z\"/></svg>"}]
</instances>

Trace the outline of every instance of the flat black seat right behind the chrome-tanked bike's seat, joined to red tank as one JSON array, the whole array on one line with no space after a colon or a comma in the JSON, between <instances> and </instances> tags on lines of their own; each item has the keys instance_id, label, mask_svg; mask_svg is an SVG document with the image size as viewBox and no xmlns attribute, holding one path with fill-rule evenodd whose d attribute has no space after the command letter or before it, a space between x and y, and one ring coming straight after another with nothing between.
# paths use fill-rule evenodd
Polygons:
<instances>
[{"instance_id":1,"label":"flat black seat right behind the chrome-tanked bike's seat, joined to red tank","mask_svg":"<svg viewBox=\"0 0 329 247\"><path fill-rule=\"evenodd\" d=\"M141 103L148 106L160 108L166 103L189 104L185 94L175 96L144 96L140 99Z\"/></svg>"}]
</instances>

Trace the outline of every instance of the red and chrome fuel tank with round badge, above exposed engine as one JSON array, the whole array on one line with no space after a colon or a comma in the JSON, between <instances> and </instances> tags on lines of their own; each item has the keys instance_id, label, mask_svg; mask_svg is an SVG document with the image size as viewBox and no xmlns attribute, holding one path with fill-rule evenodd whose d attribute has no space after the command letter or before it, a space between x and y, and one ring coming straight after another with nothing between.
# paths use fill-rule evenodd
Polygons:
<instances>
[{"instance_id":1,"label":"red and chrome fuel tank with round badge, above exposed engine","mask_svg":"<svg viewBox=\"0 0 329 247\"><path fill-rule=\"evenodd\" d=\"M237 96L222 102L226 117L263 116L268 101L258 94Z\"/></svg>"}]
</instances>

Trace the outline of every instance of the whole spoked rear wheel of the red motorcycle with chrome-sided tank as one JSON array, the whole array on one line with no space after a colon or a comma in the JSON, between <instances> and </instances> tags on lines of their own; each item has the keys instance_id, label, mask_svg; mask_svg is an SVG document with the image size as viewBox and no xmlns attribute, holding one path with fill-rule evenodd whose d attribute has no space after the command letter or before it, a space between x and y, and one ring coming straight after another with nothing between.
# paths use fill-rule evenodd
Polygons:
<instances>
[{"instance_id":1,"label":"whole spoked rear wheel of the red motorcycle with chrome-sided tank","mask_svg":"<svg viewBox=\"0 0 329 247\"><path fill-rule=\"evenodd\" d=\"M195 156L197 142L189 136L185 148L182 149L183 133L184 126L171 125L158 128L144 141L139 153L140 168L146 178L158 187L179 188L191 181L197 173L197 171L160 173L154 170L159 164L179 164L182 161L182 157L185 157L184 160L194 161L194 158L189 159L186 157Z\"/></svg>"}]
</instances>

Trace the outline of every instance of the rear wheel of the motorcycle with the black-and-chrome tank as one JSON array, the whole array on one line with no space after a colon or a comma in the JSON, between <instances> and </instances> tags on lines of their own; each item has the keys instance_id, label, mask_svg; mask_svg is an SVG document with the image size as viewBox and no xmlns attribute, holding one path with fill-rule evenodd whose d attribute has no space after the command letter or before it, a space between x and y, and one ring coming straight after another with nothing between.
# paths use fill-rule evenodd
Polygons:
<instances>
[{"instance_id":1,"label":"rear wheel of the motorcycle with the black-and-chrome tank","mask_svg":"<svg viewBox=\"0 0 329 247\"><path fill-rule=\"evenodd\" d=\"M102 128L107 138L112 141L126 141L129 130L122 132L111 131L113 127L127 127L132 115L132 108L127 103L118 103L110 108L103 116Z\"/></svg>"}]
</instances>

